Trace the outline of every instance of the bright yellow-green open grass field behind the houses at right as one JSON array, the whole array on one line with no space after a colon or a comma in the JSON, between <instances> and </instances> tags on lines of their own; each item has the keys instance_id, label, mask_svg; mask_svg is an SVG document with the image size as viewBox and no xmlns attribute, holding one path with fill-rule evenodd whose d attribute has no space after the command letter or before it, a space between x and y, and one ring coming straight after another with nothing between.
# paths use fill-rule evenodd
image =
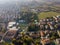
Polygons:
<instances>
[{"instance_id":1,"label":"bright yellow-green open grass field behind the houses at right","mask_svg":"<svg viewBox=\"0 0 60 45\"><path fill-rule=\"evenodd\" d=\"M44 19L46 17L52 17L52 16L57 16L60 15L60 13L57 12L42 12L40 14L38 14L38 18L39 19Z\"/></svg>"}]
</instances>

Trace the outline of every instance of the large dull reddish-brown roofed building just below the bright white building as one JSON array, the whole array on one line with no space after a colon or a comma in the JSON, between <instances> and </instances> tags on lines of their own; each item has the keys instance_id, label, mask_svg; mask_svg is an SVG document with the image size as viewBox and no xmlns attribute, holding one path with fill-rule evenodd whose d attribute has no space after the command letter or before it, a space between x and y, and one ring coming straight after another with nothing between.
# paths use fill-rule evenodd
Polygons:
<instances>
[{"instance_id":1,"label":"large dull reddish-brown roofed building just below the bright white building","mask_svg":"<svg viewBox=\"0 0 60 45\"><path fill-rule=\"evenodd\" d=\"M7 33L3 37L3 40L6 42L12 41L12 39L15 37L16 33L17 33L17 30L8 30Z\"/></svg>"}]
</instances>

